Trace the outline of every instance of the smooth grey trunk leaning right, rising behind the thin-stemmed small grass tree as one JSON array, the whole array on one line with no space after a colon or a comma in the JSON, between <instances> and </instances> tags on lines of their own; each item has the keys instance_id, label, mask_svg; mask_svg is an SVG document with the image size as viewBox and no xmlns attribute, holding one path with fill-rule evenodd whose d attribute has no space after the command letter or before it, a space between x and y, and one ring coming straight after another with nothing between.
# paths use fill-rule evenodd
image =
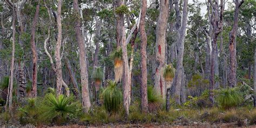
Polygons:
<instances>
[{"instance_id":1,"label":"smooth grey trunk leaning right, rising behind the thin-stemmed small grass tree","mask_svg":"<svg viewBox=\"0 0 256 128\"><path fill-rule=\"evenodd\" d=\"M181 28L179 29L180 38L178 38L178 60L177 60L177 70L175 72L174 77L174 85L175 85L175 94L174 98L177 104L180 104L180 94L181 94L181 79L183 76L183 54L184 54L184 42L185 42L185 34L186 34L186 25L187 25L187 3L188 0L185 0L183 3L183 16L181 21Z\"/></svg>"}]
</instances>

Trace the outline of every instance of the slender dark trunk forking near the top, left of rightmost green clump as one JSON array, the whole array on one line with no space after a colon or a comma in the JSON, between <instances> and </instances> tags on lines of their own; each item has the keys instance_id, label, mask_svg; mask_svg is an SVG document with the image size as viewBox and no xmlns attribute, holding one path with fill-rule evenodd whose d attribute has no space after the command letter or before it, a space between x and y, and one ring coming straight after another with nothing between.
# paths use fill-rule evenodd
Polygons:
<instances>
[{"instance_id":1,"label":"slender dark trunk forking near the top, left of rightmost green clump","mask_svg":"<svg viewBox=\"0 0 256 128\"><path fill-rule=\"evenodd\" d=\"M214 97L213 97L213 90L214 90L214 68L215 68L215 56L216 56L216 48L217 48L217 39L218 39L218 36L219 36L219 33L221 32L222 30L222 26L223 26L223 12L224 12L224 2L223 0L220 0L220 12L219 12L219 4L218 2L213 2L211 0L209 0L213 10L212 10L212 16L211 16L211 24L213 26L213 37L212 37L212 50L210 51L211 52L211 75L210 75L210 87L209 87L209 90L210 90L210 95L209 95L209 99L210 99L210 102L211 102L211 105L214 104Z\"/></svg>"}]
</instances>

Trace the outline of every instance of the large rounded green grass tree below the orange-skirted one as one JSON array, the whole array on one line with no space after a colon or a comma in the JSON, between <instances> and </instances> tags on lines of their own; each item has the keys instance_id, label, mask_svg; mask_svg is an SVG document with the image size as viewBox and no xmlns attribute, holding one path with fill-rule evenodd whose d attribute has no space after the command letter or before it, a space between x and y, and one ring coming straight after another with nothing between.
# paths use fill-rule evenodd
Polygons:
<instances>
[{"instance_id":1,"label":"large rounded green grass tree below the orange-skirted one","mask_svg":"<svg viewBox=\"0 0 256 128\"><path fill-rule=\"evenodd\" d=\"M122 104L122 91L118 89L117 83L107 80L107 87L102 92L104 107L108 112L118 112Z\"/></svg>"}]
</instances>

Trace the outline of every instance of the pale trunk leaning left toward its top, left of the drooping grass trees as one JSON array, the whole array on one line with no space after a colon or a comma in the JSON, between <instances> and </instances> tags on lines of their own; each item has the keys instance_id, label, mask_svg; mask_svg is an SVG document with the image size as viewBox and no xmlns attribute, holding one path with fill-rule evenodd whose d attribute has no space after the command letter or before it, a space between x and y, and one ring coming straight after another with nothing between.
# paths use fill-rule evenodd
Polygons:
<instances>
[{"instance_id":1,"label":"pale trunk leaning left toward its top, left of the drooping grass trees","mask_svg":"<svg viewBox=\"0 0 256 128\"><path fill-rule=\"evenodd\" d=\"M79 15L78 0L73 0L73 8L75 13ZM77 20L75 22L75 32L79 48L79 64L80 64L80 77L82 85L82 105L84 112L88 112L91 107L89 87L88 87L88 74L86 65L86 51L84 37L81 32L81 21Z\"/></svg>"}]
</instances>

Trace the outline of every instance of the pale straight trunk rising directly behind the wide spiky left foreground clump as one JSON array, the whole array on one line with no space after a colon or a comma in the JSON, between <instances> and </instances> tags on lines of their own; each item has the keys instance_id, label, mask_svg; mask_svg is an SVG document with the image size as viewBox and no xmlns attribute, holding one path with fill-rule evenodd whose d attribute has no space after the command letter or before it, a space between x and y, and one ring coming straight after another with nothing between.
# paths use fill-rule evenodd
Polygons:
<instances>
[{"instance_id":1,"label":"pale straight trunk rising directly behind the wide spiky left foreground clump","mask_svg":"<svg viewBox=\"0 0 256 128\"><path fill-rule=\"evenodd\" d=\"M57 8L57 29L58 29L58 36L57 36L57 43L55 48L55 60L56 60L56 75L57 75L57 95L62 95L62 60L60 57L60 48L62 47L62 20L61 20L61 13L62 13L62 0L58 1L58 8Z\"/></svg>"}]
</instances>

